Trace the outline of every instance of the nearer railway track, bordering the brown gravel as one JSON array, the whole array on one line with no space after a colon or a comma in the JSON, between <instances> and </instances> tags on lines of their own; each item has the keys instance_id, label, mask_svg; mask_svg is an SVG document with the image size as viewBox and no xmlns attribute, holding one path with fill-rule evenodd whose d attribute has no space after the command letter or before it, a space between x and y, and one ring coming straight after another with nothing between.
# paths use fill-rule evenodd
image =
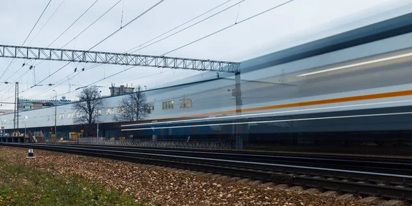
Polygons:
<instances>
[{"instance_id":1,"label":"nearer railway track, bordering the brown gravel","mask_svg":"<svg viewBox=\"0 0 412 206\"><path fill-rule=\"evenodd\" d=\"M303 187L317 187L323 190L335 190L412 201L412 189L407 186L411 184L412 176L407 175L378 174L353 170L310 168L297 165L185 157L179 155L161 155L144 152L82 148L76 146L5 143L2 143L1 145L68 152L77 155L89 155L122 161L170 166L187 170L200 170L231 176L260 179L262 181L273 181L275 183L286 183ZM387 185L379 185L378 183L387 183ZM400 187L400 185L403 186Z\"/></svg>"}]
</instances>

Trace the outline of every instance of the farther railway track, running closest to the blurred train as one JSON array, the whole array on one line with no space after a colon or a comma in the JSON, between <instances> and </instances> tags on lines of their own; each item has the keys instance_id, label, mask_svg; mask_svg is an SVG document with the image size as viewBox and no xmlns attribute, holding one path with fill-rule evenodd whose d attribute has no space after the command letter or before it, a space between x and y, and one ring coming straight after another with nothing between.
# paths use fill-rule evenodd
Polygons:
<instances>
[{"instance_id":1,"label":"farther railway track, running closest to the blurred train","mask_svg":"<svg viewBox=\"0 0 412 206\"><path fill-rule=\"evenodd\" d=\"M412 159L405 159L403 162L399 159L398 162L392 162L391 159L371 159L357 157L357 159L344 159L343 157L322 157L317 155L314 157L295 157L293 155L277 155L272 154L245 154L241 151L225 152L216 150L168 150L157 148L133 148L124 146L90 146L90 145L75 145L81 148L100 148L105 150L122 150L128 152L147 152L163 155L184 155L190 157L208 157L218 159L229 159L239 161L256 161L262 163L284 163L288 165L307 165L311 167L322 167L345 170L346 168L352 168L352 170L358 170L363 172L375 172L375 173L391 173L391 174L412 174ZM412 185L411 185L412 186Z\"/></svg>"}]
</instances>

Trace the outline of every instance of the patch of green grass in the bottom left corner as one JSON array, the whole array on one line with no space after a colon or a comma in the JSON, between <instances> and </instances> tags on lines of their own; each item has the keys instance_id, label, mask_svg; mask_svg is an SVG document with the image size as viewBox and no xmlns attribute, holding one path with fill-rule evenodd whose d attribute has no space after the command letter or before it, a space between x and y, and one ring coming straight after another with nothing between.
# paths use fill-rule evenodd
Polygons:
<instances>
[{"instance_id":1,"label":"patch of green grass in the bottom left corner","mask_svg":"<svg viewBox=\"0 0 412 206\"><path fill-rule=\"evenodd\" d=\"M0 158L0 205L143 205L82 176L54 176Z\"/></svg>"}]
</instances>

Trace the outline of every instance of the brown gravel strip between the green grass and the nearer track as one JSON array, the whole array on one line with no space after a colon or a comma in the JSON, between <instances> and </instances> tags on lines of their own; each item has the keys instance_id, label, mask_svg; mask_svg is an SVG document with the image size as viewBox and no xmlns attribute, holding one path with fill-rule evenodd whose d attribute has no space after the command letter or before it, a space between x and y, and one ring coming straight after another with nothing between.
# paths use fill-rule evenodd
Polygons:
<instances>
[{"instance_id":1,"label":"brown gravel strip between the green grass and the nearer track","mask_svg":"<svg viewBox=\"0 0 412 206\"><path fill-rule=\"evenodd\" d=\"M27 149L0 146L0 159L10 164L59 176L80 174L92 183L130 194L136 201L156 205L367 205L357 199L343 201L301 191L271 190L261 185L124 161L43 150L34 150L34 155L35 159L26 159Z\"/></svg>"}]
</instances>

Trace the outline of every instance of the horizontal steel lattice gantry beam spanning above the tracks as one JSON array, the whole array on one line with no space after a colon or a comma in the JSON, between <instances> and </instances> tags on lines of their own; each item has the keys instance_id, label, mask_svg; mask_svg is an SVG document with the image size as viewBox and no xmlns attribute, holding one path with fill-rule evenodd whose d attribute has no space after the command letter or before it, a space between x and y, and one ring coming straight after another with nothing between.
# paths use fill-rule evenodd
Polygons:
<instances>
[{"instance_id":1,"label":"horizontal steel lattice gantry beam spanning above the tracks","mask_svg":"<svg viewBox=\"0 0 412 206\"><path fill-rule=\"evenodd\" d=\"M236 73L239 62L150 56L127 53L93 52L72 49L49 49L42 47L21 47L0 45L0 57L36 60L57 60L69 62L90 62L108 65L129 65L141 67L161 67L170 69L191 69L199 71L222 71Z\"/></svg>"}]
</instances>

